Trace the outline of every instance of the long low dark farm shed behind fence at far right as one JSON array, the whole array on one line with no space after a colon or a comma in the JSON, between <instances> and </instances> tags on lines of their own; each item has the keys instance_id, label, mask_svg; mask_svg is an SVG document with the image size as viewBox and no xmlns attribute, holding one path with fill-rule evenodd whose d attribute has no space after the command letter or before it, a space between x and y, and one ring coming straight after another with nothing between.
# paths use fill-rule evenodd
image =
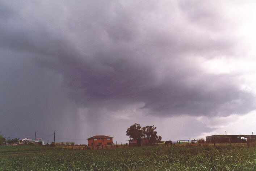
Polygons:
<instances>
[{"instance_id":1,"label":"long low dark farm shed behind fence at far right","mask_svg":"<svg viewBox=\"0 0 256 171\"><path fill-rule=\"evenodd\" d=\"M206 142L210 143L245 143L255 141L256 135L211 135L206 136Z\"/></svg>"}]
</instances>

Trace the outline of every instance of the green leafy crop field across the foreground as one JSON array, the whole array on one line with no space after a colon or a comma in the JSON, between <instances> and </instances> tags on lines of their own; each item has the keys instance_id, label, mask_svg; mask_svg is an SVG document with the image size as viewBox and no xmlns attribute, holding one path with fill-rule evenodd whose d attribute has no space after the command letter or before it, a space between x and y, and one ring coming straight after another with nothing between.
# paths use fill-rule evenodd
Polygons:
<instances>
[{"instance_id":1,"label":"green leafy crop field across the foreground","mask_svg":"<svg viewBox=\"0 0 256 171\"><path fill-rule=\"evenodd\" d=\"M0 146L0 170L256 170L253 147L134 147L65 150Z\"/></svg>"}]
</instances>

